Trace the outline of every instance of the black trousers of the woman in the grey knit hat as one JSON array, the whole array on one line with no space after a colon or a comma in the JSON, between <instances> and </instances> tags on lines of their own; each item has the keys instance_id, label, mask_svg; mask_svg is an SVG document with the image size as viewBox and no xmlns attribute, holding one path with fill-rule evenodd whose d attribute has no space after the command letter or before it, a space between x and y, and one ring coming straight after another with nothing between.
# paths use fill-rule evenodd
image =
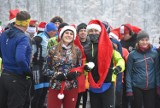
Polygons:
<instances>
[{"instance_id":1,"label":"black trousers of the woman in the grey knit hat","mask_svg":"<svg viewBox=\"0 0 160 108\"><path fill-rule=\"evenodd\" d=\"M155 108L155 89L142 90L133 87L134 108Z\"/></svg>"}]
</instances>

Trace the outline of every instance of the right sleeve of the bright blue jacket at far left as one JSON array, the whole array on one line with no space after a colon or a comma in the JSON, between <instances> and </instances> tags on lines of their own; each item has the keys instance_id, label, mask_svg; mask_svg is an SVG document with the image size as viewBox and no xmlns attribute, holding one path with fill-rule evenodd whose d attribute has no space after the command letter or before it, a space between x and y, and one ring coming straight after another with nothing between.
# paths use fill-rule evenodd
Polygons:
<instances>
[{"instance_id":1,"label":"right sleeve of the bright blue jacket at far left","mask_svg":"<svg viewBox=\"0 0 160 108\"><path fill-rule=\"evenodd\" d=\"M29 38L27 36L21 38L16 47L16 62L21 70L24 72L30 71L30 57L31 57L31 48L30 47Z\"/></svg>"}]
</instances>

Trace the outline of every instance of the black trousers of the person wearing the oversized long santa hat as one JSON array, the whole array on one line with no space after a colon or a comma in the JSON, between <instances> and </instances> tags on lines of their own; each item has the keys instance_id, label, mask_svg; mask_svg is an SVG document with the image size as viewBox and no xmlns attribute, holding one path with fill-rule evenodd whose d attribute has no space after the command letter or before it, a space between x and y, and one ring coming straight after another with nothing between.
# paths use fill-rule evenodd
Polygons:
<instances>
[{"instance_id":1,"label":"black trousers of the person wearing the oversized long santa hat","mask_svg":"<svg viewBox=\"0 0 160 108\"><path fill-rule=\"evenodd\" d=\"M115 87L111 87L103 93L89 92L91 108L115 108Z\"/></svg>"}]
</instances>

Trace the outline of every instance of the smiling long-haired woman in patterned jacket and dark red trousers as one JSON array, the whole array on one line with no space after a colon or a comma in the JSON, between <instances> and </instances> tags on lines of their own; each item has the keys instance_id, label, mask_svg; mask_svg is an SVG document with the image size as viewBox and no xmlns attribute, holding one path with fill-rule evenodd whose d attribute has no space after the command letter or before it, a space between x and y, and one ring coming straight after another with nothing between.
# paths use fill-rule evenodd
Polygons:
<instances>
[{"instance_id":1,"label":"smiling long-haired woman in patterned jacket and dark red trousers","mask_svg":"<svg viewBox=\"0 0 160 108\"><path fill-rule=\"evenodd\" d=\"M54 74L48 93L48 108L75 108L78 96L77 78L83 73L80 68L82 53L74 44L76 29L64 26L59 33L59 43L49 51Z\"/></svg>"}]
</instances>

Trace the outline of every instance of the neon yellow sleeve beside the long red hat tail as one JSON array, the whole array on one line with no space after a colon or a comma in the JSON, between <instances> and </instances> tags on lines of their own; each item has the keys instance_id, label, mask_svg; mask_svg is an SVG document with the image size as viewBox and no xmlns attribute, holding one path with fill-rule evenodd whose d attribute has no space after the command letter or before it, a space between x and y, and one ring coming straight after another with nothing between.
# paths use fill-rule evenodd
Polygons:
<instances>
[{"instance_id":1,"label":"neon yellow sleeve beside the long red hat tail","mask_svg":"<svg viewBox=\"0 0 160 108\"><path fill-rule=\"evenodd\" d=\"M115 66L121 67L121 72L125 70L125 61L122 58L121 54L116 50L113 50L113 61L115 63Z\"/></svg>"}]
</instances>

